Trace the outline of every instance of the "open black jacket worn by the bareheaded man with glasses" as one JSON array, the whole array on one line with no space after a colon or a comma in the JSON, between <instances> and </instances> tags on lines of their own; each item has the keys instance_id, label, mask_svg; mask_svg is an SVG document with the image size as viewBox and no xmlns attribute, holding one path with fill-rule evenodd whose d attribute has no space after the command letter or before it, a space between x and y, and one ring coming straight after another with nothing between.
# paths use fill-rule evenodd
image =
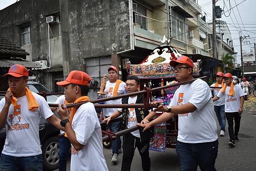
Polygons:
<instances>
[{"instance_id":1,"label":"open black jacket worn by the bareheaded man with glasses","mask_svg":"<svg viewBox=\"0 0 256 171\"><path fill-rule=\"evenodd\" d=\"M128 104L128 98L125 97L122 98L122 104ZM143 95L138 95L136 104L143 104ZM135 108L136 112L136 118L137 122L140 123L147 115L148 115L148 110L144 110L144 108ZM121 124L121 129L127 129L127 119L128 119L128 108L123 108L122 109L122 124ZM154 136L154 127L151 127L150 129L146 130L143 132L143 128L139 128L140 131L140 139L141 141L146 141L151 139L152 136Z\"/></svg>"}]
</instances>

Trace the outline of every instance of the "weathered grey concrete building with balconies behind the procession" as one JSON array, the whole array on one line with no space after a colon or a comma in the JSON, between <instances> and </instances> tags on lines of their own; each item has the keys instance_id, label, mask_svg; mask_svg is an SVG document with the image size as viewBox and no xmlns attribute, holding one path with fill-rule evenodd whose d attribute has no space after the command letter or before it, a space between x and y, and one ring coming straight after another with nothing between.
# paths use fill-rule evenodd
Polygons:
<instances>
[{"instance_id":1,"label":"weathered grey concrete building with balconies behind the procession","mask_svg":"<svg viewBox=\"0 0 256 171\"><path fill-rule=\"evenodd\" d=\"M2 20L14 6L0 32L29 52L26 60L47 61L38 81L49 90L63 91L55 84L64 79L63 73L82 70L93 78L90 96L95 98L109 66L116 66L120 78L125 79L125 61L139 64L160 46L163 35L194 61L202 59L206 65L216 62L210 58L212 33L199 17L202 12L196 0L62 2L66 6L58 0L20 0L0 10Z\"/></svg>"}]
</instances>

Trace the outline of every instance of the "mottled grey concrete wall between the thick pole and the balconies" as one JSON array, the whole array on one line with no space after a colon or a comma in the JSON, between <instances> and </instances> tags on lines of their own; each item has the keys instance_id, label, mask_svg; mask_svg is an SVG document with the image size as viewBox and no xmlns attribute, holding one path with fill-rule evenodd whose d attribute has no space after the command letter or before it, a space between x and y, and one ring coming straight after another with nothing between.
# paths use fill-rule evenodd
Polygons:
<instances>
[{"instance_id":1,"label":"mottled grey concrete wall between the thick pole and the balconies","mask_svg":"<svg viewBox=\"0 0 256 171\"><path fill-rule=\"evenodd\" d=\"M69 6L71 68L82 58L130 49L128 0L72 0Z\"/></svg>"}]
</instances>

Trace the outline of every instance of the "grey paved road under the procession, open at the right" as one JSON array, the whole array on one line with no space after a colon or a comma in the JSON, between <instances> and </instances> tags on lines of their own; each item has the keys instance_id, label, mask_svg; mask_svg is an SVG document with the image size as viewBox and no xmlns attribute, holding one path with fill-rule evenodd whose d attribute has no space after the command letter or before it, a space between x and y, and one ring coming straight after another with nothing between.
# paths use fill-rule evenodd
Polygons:
<instances>
[{"instance_id":1,"label":"grey paved road under the procession, open at the right","mask_svg":"<svg viewBox=\"0 0 256 171\"><path fill-rule=\"evenodd\" d=\"M216 118L215 118L216 119ZM217 119L216 122L218 123ZM218 126L218 131L219 131ZM244 104L241 127L239 131L239 142L236 147L228 146L229 137L219 137L218 157L215 167L218 171L256 171L256 98L250 96ZM104 156L109 171L120 171L122 154L118 156L119 163L111 163L111 150L104 149ZM179 171L179 162L175 149L167 149L166 152L150 151L151 171ZM68 162L68 168L70 162ZM58 171L55 170L55 171ZM140 154L136 150L131 165L131 171L142 171ZM200 169L198 168L198 171Z\"/></svg>"}]
</instances>

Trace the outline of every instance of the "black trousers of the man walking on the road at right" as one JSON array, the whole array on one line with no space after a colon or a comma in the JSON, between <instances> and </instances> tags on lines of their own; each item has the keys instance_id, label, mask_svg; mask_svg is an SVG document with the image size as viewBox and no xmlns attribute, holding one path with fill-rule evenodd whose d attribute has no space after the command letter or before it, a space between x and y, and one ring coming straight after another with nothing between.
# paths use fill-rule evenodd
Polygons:
<instances>
[{"instance_id":1,"label":"black trousers of the man walking on the road at right","mask_svg":"<svg viewBox=\"0 0 256 171\"><path fill-rule=\"evenodd\" d=\"M240 121L241 121L241 114L238 112L226 112L226 118L228 123L228 134L230 136L230 140L234 139L234 136L238 136L239 128L240 128ZM235 132L233 128L233 121L235 121Z\"/></svg>"}]
</instances>

